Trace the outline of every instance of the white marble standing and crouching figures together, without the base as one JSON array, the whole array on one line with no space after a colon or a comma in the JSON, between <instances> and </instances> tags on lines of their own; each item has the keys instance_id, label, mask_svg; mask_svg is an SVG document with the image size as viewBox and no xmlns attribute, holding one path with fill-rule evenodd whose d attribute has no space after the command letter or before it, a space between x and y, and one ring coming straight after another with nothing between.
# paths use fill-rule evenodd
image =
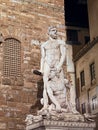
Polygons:
<instances>
[{"instance_id":1,"label":"white marble standing and crouching figures together, without the base","mask_svg":"<svg viewBox=\"0 0 98 130\"><path fill-rule=\"evenodd\" d=\"M63 40L57 38L56 27L49 27L49 39L41 46L41 68L43 74L43 108L66 111L66 87L63 74L63 63L66 58L66 46ZM49 100L51 104L49 105Z\"/></svg>"}]
</instances>

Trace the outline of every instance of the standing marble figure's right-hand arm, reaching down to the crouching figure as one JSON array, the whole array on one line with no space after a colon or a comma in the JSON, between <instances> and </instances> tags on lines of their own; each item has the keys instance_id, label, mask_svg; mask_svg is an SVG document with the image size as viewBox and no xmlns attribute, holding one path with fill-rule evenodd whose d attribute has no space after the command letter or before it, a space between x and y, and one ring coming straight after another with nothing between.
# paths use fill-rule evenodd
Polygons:
<instances>
[{"instance_id":1,"label":"standing marble figure's right-hand arm, reaching down to the crouching figure","mask_svg":"<svg viewBox=\"0 0 98 130\"><path fill-rule=\"evenodd\" d=\"M63 65L65 58L66 58L66 46L65 46L64 42L62 42L60 44L60 53L61 53L60 62L57 66L57 70L60 70L62 68L62 65Z\"/></svg>"}]
</instances>

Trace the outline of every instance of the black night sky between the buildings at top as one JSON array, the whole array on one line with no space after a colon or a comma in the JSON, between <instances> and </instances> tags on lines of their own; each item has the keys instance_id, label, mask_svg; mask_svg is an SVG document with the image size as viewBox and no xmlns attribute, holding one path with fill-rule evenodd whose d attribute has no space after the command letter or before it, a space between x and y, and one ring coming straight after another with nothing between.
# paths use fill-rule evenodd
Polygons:
<instances>
[{"instance_id":1,"label":"black night sky between the buildings at top","mask_svg":"<svg viewBox=\"0 0 98 130\"><path fill-rule=\"evenodd\" d=\"M86 0L65 0L65 21L67 26L88 27Z\"/></svg>"}]
</instances>

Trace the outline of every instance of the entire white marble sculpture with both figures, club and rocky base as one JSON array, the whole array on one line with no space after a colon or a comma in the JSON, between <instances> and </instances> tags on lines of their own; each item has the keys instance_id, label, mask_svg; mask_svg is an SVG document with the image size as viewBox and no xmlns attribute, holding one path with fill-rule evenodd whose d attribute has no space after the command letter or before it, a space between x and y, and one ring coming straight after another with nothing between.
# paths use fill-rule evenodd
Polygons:
<instances>
[{"instance_id":1,"label":"entire white marble sculpture with both figures, club and rocky base","mask_svg":"<svg viewBox=\"0 0 98 130\"><path fill-rule=\"evenodd\" d=\"M27 115L26 130L30 130L30 126L32 129L41 127L41 125L46 127L45 122L47 121L51 122L51 127L55 126L54 121L58 123L63 121L65 124L71 122L73 125L74 122L76 124L82 122L85 125L83 122L93 121L91 116L81 115L77 112L72 100L68 98L68 92L69 95L72 94L72 85L63 73L63 63L66 62L66 43L58 39L56 27L49 27L48 36L49 39L41 44L40 70L33 70L33 73L43 76L43 98L41 99L43 107L37 111L36 116ZM72 125L70 126L72 128ZM57 129L59 129L58 126Z\"/></svg>"}]
</instances>

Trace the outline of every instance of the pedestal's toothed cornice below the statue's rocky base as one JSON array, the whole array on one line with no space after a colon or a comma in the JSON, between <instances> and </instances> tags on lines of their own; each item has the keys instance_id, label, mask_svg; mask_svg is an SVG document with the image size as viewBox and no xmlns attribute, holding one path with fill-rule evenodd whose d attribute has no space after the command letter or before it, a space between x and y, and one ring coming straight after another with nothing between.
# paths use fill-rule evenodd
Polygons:
<instances>
[{"instance_id":1,"label":"pedestal's toothed cornice below the statue's rocky base","mask_svg":"<svg viewBox=\"0 0 98 130\"><path fill-rule=\"evenodd\" d=\"M42 121L33 123L26 127L26 130L94 130L94 122L70 122L70 121Z\"/></svg>"}]
</instances>

